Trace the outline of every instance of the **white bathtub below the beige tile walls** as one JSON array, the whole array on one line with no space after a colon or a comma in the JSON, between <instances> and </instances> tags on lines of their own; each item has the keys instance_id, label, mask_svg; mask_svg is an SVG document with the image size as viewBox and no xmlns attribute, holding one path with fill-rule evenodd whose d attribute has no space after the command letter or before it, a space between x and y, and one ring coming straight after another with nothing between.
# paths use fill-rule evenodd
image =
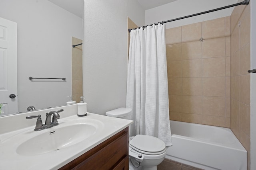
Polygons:
<instances>
[{"instance_id":1,"label":"white bathtub below the beige tile walls","mask_svg":"<svg viewBox=\"0 0 256 170\"><path fill-rule=\"evenodd\" d=\"M246 170L247 151L228 128L170 121L167 159L204 170Z\"/></svg>"}]
</instances>

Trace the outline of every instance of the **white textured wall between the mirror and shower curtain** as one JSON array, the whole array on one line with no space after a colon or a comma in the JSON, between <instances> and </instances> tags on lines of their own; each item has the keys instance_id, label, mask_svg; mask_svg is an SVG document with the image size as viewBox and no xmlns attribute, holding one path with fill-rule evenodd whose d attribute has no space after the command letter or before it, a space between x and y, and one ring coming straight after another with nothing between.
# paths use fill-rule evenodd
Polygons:
<instances>
[{"instance_id":1,"label":"white textured wall between the mirror and shower curtain","mask_svg":"<svg viewBox=\"0 0 256 170\"><path fill-rule=\"evenodd\" d=\"M126 106L127 16L144 25L144 10L136 0L84 2L84 96L88 111L104 115Z\"/></svg>"}]
</instances>

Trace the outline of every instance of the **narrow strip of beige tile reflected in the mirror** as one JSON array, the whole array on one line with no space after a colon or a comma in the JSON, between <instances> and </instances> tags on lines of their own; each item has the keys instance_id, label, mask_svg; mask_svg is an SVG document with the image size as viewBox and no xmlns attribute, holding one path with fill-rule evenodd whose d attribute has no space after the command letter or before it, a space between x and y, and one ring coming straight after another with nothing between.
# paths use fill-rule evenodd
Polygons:
<instances>
[{"instance_id":1,"label":"narrow strip of beige tile reflected in the mirror","mask_svg":"<svg viewBox=\"0 0 256 170\"><path fill-rule=\"evenodd\" d=\"M72 45L82 43L81 39L72 37ZM83 45L78 45L72 48L72 96L73 101L80 102L80 97L83 96Z\"/></svg>"}]
</instances>

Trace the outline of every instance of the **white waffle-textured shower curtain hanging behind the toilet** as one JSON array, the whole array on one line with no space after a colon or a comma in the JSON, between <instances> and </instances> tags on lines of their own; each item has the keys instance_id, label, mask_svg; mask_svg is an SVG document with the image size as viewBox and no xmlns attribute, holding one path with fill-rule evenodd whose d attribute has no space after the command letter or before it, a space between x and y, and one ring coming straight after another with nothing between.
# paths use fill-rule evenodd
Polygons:
<instances>
[{"instance_id":1,"label":"white waffle-textured shower curtain hanging behind the toilet","mask_svg":"<svg viewBox=\"0 0 256 170\"><path fill-rule=\"evenodd\" d=\"M126 107L132 108L131 135L150 135L172 145L163 24L130 32Z\"/></svg>"}]
</instances>

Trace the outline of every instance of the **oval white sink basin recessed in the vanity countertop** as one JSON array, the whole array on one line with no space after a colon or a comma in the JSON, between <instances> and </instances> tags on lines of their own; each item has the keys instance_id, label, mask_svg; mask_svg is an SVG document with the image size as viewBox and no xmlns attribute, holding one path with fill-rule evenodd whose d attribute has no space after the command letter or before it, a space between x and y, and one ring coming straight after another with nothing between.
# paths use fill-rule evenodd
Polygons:
<instances>
[{"instance_id":1,"label":"oval white sink basin recessed in the vanity countertop","mask_svg":"<svg viewBox=\"0 0 256 170\"><path fill-rule=\"evenodd\" d=\"M44 131L44 130L43 130ZM96 132L95 125L76 123L66 126L56 126L20 144L16 150L18 154L32 156L44 154L70 147L87 139Z\"/></svg>"}]
</instances>

